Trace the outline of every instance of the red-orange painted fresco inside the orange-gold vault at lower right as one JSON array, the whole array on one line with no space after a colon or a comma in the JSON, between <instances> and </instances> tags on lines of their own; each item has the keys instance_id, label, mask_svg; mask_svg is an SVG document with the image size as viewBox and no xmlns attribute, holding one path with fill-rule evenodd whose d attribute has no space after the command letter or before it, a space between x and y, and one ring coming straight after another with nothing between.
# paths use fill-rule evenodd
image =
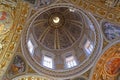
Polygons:
<instances>
[{"instance_id":1,"label":"red-orange painted fresco inside the orange-gold vault at lower right","mask_svg":"<svg viewBox=\"0 0 120 80\"><path fill-rule=\"evenodd\" d=\"M116 75L120 72L120 58L112 58L105 64L105 71L109 75Z\"/></svg>"}]
</instances>

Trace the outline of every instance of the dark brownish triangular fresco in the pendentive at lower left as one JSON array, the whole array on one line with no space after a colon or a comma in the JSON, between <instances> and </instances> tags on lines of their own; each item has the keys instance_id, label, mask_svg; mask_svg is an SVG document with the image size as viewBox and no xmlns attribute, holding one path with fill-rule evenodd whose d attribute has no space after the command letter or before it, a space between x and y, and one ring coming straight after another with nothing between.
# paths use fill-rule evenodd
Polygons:
<instances>
[{"instance_id":1,"label":"dark brownish triangular fresco in the pendentive at lower left","mask_svg":"<svg viewBox=\"0 0 120 80\"><path fill-rule=\"evenodd\" d=\"M25 72L26 65L20 56L15 56L13 63L8 71L9 77Z\"/></svg>"}]
</instances>

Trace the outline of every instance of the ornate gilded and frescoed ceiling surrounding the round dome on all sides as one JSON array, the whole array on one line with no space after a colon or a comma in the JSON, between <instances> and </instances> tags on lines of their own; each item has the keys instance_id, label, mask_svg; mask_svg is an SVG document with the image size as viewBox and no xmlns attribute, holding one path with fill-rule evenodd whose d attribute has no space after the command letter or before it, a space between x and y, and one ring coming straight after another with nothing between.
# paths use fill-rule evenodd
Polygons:
<instances>
[{"instance_id":1,"label":"ornate gilded and frescoed ceiling surrounding the round dome on all sides","mask_svg":"<svg viewBox=\"0 0 120 80\"><path fill-rule=\"evenodd\" d=\"M101 44L96 43L99 46L99 54L95 54L97 56L94 64L81 74L65 79L119 80L120 0L43 0L43 2L42 0L0 0L0 80L56 79L36 71L23 55L26 44L21 46L21 41L26 40L26 26L31 24L30 21L34 16L38 16L38 12L56 4L69 4L91 15L97 23L92 18L90 18L91 21L100 29L96 33L101 36L95 39L96 42L100 39ZM86 34L89 35L89 32ZM94 40L94 36L91 39ZM84 60L83 57L81 56L80 59Z\"/></svg>"}]
</instances>

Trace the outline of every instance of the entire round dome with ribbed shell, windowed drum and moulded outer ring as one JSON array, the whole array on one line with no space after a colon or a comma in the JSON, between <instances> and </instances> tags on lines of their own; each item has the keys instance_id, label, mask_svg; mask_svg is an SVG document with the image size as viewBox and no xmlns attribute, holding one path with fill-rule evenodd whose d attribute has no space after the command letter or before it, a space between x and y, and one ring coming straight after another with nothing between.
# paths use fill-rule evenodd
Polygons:
<instances>
[{"instance_id":1,"label":"entire round dome with ribbed shell, windowed drum and moulded outer ring","mask_svg":"<svg viewBox=\"0 0 120 80\"><path fill-rule=\"evenodd\" d=\"M98 32L99 25L91 14L71 4L54 4L39 9L28 20L22 51L39 74L65 79L92 66L101 49Z\"/></svg>"}]
</instances>

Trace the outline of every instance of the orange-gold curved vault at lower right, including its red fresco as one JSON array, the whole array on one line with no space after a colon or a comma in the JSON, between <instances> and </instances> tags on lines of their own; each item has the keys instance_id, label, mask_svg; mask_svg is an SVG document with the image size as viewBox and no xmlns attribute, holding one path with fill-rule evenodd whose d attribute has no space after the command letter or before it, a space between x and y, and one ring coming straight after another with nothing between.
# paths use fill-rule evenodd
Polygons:
<instances>
[{"instance_id":1,"label":"orange-gold curved vault at lower right, including its red fresco","mask_svg":"<svg viewBox=\"0 0 120 80\"><path fill-rule=\"evenodd\" d=\"M119 80L120 43L109 47L93 68L91 80Z\"/></svg>"}]
</instances>

